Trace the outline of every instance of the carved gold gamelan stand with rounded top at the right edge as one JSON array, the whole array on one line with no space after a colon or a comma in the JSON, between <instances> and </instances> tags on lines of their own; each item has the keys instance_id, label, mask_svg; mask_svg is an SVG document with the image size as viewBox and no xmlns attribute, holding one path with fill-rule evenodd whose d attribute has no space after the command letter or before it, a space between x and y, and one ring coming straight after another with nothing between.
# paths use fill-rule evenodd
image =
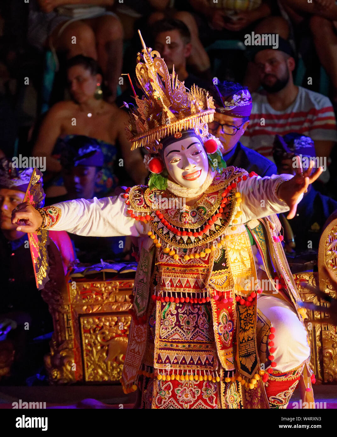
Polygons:
<instances>
[{"instance_id":1,"label":"carved gold gamelan stand with rounded top at the right edge","mask_svg":"<svg viewBox=\"0 0 337 437\"><path fill-rule=\"evenodd\" d=\"M325 229L320 238L318 251L318 273L294 274L294 279L302 300L313 302L316 305L327 306L327 302L318 298L313 292L303 288L300 282L308 282L314 287L319 287L333 298L337 297L337 291L333 290L330 279L323 268L327 266L337 274L337 213L330 215ZM307 310L309 319L325 319L327 314L319 311ZM337 383L337 328L325 323L322 325L307 324L307 331L311 342L312 355L310 365L316 375L317 382Z\"/></svg>"}]
</instances>

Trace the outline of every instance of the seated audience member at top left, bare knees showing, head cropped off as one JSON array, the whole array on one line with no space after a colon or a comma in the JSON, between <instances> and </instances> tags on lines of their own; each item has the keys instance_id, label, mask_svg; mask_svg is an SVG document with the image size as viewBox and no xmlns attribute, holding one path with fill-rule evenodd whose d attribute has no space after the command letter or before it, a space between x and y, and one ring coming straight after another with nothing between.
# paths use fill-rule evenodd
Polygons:
<instances>
[{"instance_id":1,"label":"seated audience member at top left, bare knees showing, head cropped off","mask_svg":"<svg viewBox=\"0 0 337 437\"><path fill-rule=\"evenodd\" d=\"M28 42L65 52L68 59L84 55L101 66L110 96L115 101L122 70L123 28L117 15L106 11L113 0L30 0ZM73 4L76 3L76 4Z\"/></svg>"}]
</instances>

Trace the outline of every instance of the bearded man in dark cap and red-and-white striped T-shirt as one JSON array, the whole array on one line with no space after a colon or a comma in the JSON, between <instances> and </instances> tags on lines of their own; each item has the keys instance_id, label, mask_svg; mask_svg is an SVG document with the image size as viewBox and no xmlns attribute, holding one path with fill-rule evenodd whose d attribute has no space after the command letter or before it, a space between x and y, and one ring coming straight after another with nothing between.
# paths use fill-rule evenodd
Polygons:
<instances>
[{"instance_id":1,"label":"bearded man in dark cap and red-and-white striped T-shirt","mask_svg":"<svg viewBox=\"0 0 337 437\"><path fill-rule=\"evenodd\" d=\"M268 45L254 49L252 58L265 92L252 94L253 108L250 124L241 138L243 145L272 160L275 135L297 132L314 140L317 156L328 158L337 141L330 100L294 84L295 59L287 41L279 38L277 50Z\"/></svg>"}]
</instances>

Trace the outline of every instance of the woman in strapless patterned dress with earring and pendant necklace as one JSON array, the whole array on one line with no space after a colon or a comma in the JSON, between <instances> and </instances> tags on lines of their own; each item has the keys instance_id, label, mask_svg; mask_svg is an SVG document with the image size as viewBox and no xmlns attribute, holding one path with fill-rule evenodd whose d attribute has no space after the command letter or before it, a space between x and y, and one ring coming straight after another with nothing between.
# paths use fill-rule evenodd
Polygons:
<instances>
[{"instance_id":1,"label":"woman in strapless patterned dress with earring and pendant necklace","mask_svg":"<svg viewBox=\"0 0 337 437\"><path fill-rule=\"evenodd\" d=\"M104 154L102 177L97 180L95 194L101 197L118 185L115 165L118 149L122 161L118 162L126 173L125 179L137 184L144 183L148 172L139 150L130 153L125 136L127 114L103 100L102 75L97 62L77 55L67 62L67 79L72 100L56 103L46 114L38 132L32 156L46 156L46 170L52 176L46 182L45 193L52 203L66 194L61 177L59 153L61 146L80 135L83 145L96 140ZM63 143L63 144L62 144ZM121 165L122 164L122 165ZM50 203L50 201L49 201Z\"/></svg>"}]
</instances>

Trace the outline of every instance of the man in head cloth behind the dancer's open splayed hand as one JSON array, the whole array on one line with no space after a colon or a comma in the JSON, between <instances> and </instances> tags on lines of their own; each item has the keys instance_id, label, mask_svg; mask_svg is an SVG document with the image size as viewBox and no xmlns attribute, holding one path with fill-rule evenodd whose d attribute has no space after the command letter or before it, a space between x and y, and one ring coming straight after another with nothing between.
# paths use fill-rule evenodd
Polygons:
<instances>
[{"instance_id":1,"label":"man in head cloth behind the dancer's open splayed hand","mask_svg":"<svg viewBox=\"0 0 337 437\"><path fill-rule=\"evenodd\" d=\"M302 156L303 169L307 167L310 157L315 156L315 145L310 137L292 132L281 137L276 135L273 146L273 157L278 174L295 174L294 157ZM318 251L320 236L324 223L337 210L337 201L324 196L309 185L299 203L294 218L289 224L294 232L296 253Z\"/></svg>"}]
</instances>

